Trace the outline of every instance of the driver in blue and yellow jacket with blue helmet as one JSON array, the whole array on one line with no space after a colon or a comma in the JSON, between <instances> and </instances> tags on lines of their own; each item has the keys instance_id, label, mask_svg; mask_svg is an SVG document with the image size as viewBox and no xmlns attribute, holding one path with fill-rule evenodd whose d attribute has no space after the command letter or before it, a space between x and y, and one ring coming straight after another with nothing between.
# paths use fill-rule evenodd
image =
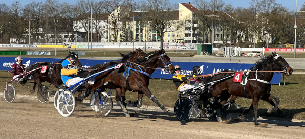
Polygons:
<instances>
[{"instance_id":1,"label":"driver in blue and yellow jacket with blue helmet","mask_svg":"<svg viewBox=\"0 0 305 139\"><path fill-rule=\"evenodd\" d=\"M73 63L71 62L70 59L63 60L61 64L63 68L61 69L60 74L61 74L61 80L64 83L64 85L70 87L84 79L80 77L74 78L75 74L77 75L78 73L84 72L84 69L74 68Z\"/></svg>"}]
</instances>

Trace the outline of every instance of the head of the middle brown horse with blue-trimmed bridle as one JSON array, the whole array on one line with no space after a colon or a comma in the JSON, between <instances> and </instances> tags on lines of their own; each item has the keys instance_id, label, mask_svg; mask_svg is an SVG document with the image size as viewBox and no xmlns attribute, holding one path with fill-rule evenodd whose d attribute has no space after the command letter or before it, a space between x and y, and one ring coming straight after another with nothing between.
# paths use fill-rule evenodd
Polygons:
<instances>
[{"instance_id":1,"label":"head of the middle brown horse with blue-trimmed bridle","mask_svg":"<svg viewBox=\"0 0 305 139\"><path fill-rule=\"evenodd\" d=\"M175 73L174 67L172 65L172 62L170 62L170 58L166 55L165 50L161 49L157 51L157 54L159 54L158 66L165 68L169 74L174 74Z\"/></svg>"}]
</instances>

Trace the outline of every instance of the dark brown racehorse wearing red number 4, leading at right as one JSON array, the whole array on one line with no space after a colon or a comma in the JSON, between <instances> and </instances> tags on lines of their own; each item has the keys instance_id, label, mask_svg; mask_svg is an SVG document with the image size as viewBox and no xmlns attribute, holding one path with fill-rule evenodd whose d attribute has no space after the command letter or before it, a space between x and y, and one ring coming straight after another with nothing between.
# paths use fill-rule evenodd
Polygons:
<instances>
[{"instance_id":1,"label":"dark brown racehorse wearing red number 4, leading at right","mask_svg":"<svg viewBox=\"0 0 305 139\"><path fill-rule=\"evenodd\" d=\"M220 108L227 102L231 95L252 99L254 110L255 125L257 122L257 107L258 102L264 96L268 96L271 91L270 81L273 77L273 72L284 71L287 76L291 75L293 69L289 66L284 58L276 52L272 55L262 58L255 63L255 66L250 69L248 81L246 85L234 82L233 78L217 82L211 86L210 94L213 97L220 96L221 101L216 106L217 121L222 122ZM263 72L266 71L266 72ZM226 73L220 73L216 76L223 77ZM274 110L278 109L278 103L274 106Z\"/></svg>"}]
</instances>

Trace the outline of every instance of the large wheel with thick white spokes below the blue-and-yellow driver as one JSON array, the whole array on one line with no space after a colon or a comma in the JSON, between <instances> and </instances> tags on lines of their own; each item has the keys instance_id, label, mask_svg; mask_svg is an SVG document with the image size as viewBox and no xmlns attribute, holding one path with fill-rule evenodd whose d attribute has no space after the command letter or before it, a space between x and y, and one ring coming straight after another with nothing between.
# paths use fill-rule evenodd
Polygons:
<instances>
[{"instance_id":1,"label":"large wheel with thick white spokes below the blue-and-yellow driver","mask_svg":"<svg viewBox=\"0 0 305 139\"><path fill-rule=\"evenodd\" d=\"M69 117L75 109L75 98L70 91L64 91L58 96L57 110L63 117Z\"/></svg>"}]
</instances>

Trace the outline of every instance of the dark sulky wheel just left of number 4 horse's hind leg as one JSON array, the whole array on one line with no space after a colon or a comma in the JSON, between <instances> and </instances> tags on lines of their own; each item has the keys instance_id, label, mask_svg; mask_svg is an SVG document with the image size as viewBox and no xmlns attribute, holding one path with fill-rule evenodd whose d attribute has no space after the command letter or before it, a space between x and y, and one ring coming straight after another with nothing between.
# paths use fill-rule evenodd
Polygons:
<instances>
[{"instance_id":1,"label":"dark sulky wheel just left of number 4 horse's hind leg","mask_svg":"<svg viewBox=\"0 0 305 139\"><path fill-rule=\"evenodd\" d=\"M206 104L207 112L206 116L209 120L217 120L217 112L215 104L219 102L219 99L210 98Z\"/></svg>"}]
</instances>

